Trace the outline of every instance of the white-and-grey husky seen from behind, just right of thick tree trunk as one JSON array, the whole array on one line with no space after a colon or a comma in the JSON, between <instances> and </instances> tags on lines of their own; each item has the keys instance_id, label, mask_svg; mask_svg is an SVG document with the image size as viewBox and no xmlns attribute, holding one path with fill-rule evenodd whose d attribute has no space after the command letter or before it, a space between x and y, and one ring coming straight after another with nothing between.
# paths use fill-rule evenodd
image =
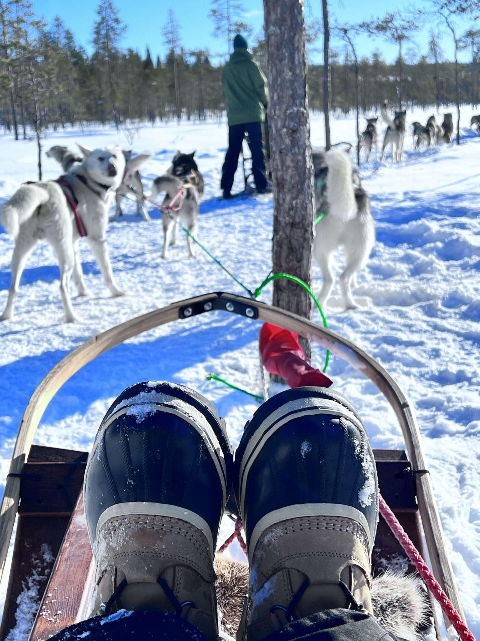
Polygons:
<instances>
[{"instance_id":1,"label":"white-and-grey husky seen from behind, just right of thick tree trunk","mask_svg":"<svg viewBox=\"0 0 480 641\"><path fill-rule=\"evenodd\" d=\"M314 257L323 274L319 301L324 303L333 285L330 256L344 248L345 269L340 274L340 291L346 310L357 305L351 296L351 282L365 265L375 240L375 224L370 199L353 174L350 156L342 149L315 151L316 214L325 212L317 223Z\"/></svg>"}]
</instances>

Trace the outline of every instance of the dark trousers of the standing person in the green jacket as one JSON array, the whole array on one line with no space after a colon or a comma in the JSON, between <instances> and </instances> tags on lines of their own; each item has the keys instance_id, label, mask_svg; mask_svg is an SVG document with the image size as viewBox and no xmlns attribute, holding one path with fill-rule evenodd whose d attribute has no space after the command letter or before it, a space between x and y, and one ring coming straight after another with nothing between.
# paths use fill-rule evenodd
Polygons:
<instances>
[{"instance_id":1,"label":"dark trousers of the standing person in the green jacket","mask_svg":"<svg viewBox=\"0 0 480 641\"><path fill-rule=\"evenodd\" d=\"M262 123L246 122L228 127L228 149L225 162L221 169L220 187L230 194L234 184L234 176L238 167L238 157L242 149L244 134L248 133L250 151L252 153L252 171L257 191L263 192L267 186L265 178L265 160L262 149Z\"/></svg>"}]
</instances>

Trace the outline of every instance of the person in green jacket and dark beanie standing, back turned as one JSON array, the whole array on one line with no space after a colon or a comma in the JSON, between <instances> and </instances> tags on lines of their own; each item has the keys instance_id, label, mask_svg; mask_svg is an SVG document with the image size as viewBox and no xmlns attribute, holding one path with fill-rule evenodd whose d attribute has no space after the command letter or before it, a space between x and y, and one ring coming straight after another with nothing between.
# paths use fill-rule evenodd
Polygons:
<instances>
[{"instance_id":1,"label":"person in green jacket and dark beanie standing, back turned","mask_svg":"<svg viewBox=\"0 0 480 641\"><path fill-rule=\"evenodd\" d=\"M231 198L238 158L245 133L250 140L252 171L259 194L267 189L262 149L262 122L268 103L267 79L247 51L248 43L240 34L234 38L234 53L223 68L223 96L227 103L228 149L222 167L220 187L224 198Z\"/></svg>"}]
</instances>

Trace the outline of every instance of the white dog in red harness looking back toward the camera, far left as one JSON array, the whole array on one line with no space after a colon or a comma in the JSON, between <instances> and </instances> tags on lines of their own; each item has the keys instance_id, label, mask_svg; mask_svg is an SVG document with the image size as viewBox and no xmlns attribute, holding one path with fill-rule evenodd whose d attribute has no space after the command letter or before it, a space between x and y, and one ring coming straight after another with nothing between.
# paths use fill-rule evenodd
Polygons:
<instances>
[{"instance_id":1,"label":"white dog in red harness looking back toward the camera, far left","mask_svg":"<svg viewBox=\"0 0 480 641\"><path fill-rule=\"evenodd\" d=\"M12 285L0 320L12 318L22 272L40 238L51 244L58 258L60 294L67 322L76 320L70 299L70 276L73 274L79 296L88 296L89 293L78 254L78 241L83 232L86 232L88 244L111 295L122 296L124 293L116 287L113 279L106 244L109 199L122 181L124 155L120 147L93 151L81 145L79 148L84 160L74 163L70 173L64 177L64 182L68 183L65 191L56 181L22 185L0 210L0 222L15 238ZM75 201L79 219L69 204Z\"/></svg>"}]
</instances>

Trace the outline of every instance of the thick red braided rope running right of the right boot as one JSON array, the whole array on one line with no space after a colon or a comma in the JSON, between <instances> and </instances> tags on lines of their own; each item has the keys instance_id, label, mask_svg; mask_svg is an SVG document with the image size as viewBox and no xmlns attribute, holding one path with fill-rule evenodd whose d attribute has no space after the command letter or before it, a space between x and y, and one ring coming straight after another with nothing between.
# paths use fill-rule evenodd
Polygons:
<instances>
[{"instance_id":1,"label":"thick red braided rope running right of the right boot","mask_svg":"<svg viewBox=\"0 0 480 641\"><path fill-rule=\"evenodd\" d=\"M392 530L395 537L397 538L400 545L403 547L410 561L417 568L422 579L425 581L426 586L433 594L435 599L440 603L442 610L447 615L448 620L451 622L452 626L458 632L459 637L462 641L475 641L474 635L467 628L465 623L460 617L460 614L455 610L452 602L449 597L445 594L444 590L440 587L440 584L436 580L435 576L428 569L428 565L424 562L420 556L419 551L413 545L410 538L408 538L407 533L404 531L400 525L397 517L394 515L392 510L388 507L387 503L383 500L381 495L380 499L380 513L383 518L387 521L388 527Z\"/></svg>"}]
</instances>

